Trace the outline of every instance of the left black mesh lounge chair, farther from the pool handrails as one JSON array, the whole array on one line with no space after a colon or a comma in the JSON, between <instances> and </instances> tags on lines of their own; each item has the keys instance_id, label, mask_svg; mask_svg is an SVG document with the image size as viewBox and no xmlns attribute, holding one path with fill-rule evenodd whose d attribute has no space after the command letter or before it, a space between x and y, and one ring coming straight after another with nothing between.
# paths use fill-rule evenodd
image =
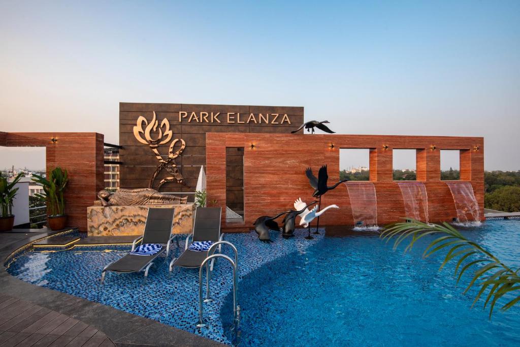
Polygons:
<instances>
[{"instance_id":1,"label":"left black mesh lounge chair, farther from the pool handrails","mask_svg":"<svg viewBox=\"0 0 520 347\"><path fill-rule=\"evenodd\" d=\"M145 232L142 234L141 245L145 243L160 243L163 248L153 255L135 255L132 254L136 248L136 243L141 239L141 236L136 238L132 244L132 251L123 256L123 258L116 260L105 266L101 271L101 284L105 280L107 271L116 273L131 273L145 271L144 282L148 277L148 270L153 265L153 261L159 255L166 252L166 258L170 252L170 243L175 238L177 246L179 241L176 235L172 235L173 216L175 209L148 209L148 216L146 218ZM166 246L166 247L164 247Z\"/></svg>"}]
</instances>

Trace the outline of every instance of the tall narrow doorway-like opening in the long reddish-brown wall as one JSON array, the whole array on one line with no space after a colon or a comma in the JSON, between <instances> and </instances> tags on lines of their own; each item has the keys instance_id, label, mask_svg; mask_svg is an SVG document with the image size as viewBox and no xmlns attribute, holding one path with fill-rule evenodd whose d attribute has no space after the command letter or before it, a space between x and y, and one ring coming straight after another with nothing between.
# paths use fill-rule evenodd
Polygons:
<instances>
[{"instance_id":1,"label":"tall narrow doorway-like opening in the long reddish-brown wall","mask_svg":"<svg viewBox=\"0 0 520 347\"><path fill-rule=\"evenodd\" d=\"M226 223L244 223L244 147L226 147Z\"/></svg>"}]
</instances>

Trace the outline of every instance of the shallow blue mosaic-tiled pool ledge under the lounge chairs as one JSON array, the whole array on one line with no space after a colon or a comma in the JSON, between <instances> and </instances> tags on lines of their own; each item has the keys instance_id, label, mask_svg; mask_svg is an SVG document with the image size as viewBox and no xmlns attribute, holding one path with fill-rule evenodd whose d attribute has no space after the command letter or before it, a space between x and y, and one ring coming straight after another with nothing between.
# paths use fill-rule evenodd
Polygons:
<instances>
[{"instance_id":1,"label":"shallow blue mosaic-tiled pool ledge under the lounge chairs","mask_svg":"<svg viewBox=\"0 0 520 347\"><path fill-rule=\"evenodd\" d=\"M321 234L324 230L321 229ZM306 240L306 229L298 229L295 237L283 239L281 233L271 232L272 243L258 241L254 232L248 234L226 234L224 240L238 249L239 281L254 269L293 252L305 252L311 245L323 239L314 235ZM108 263L121 258L129 247L99 247L72 249L68 251L30 251L18 255L8 264L7 271L21 280L46 288L75 295L90 301L110 305L116 309L157 320L197 335L230 344L226 337L220 310L226 295L232 289L229 265L217 261L210 284L213 302L204 304L207 327L197 328L199 305L199 272L196 269L174 269L168 276L168 264L184 250L184 239L180 247L173 247L166 262L159 260L151 268L148 282L142 285L143 274L109 273L105 284L100 285L101 270ZM224 254L233 259L229 247ZM240 282L238 285L240 291ZM240 303L239 303L240 304Z\"/></svg>"}]
</instances>

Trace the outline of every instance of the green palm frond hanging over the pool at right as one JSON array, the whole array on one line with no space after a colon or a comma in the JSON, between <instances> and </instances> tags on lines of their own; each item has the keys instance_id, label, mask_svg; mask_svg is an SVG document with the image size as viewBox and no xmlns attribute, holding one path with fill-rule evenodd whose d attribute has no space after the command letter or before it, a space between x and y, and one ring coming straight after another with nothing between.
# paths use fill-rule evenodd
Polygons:
<instances>
[{"instance_id":1,"label":"green palm frond hanging over the pool at right","mask_svg":"<svg viewBox=\"0 0 520 347\"><path fill-rule=\"evenodd\" d=\"M426 247L423 252L423 258L427 258L441 250L447 250L439 270L449 262L457 261L454 275L457 275L458 283L463 274L468 272L470 268L474 268L473 266L477 266L473 271L473 277L464 289L464 293L467 293L472 287L480 287L472 307L485 294L484 307L487 307L489 304L489 317L491 318L495 304L504 295L511 295L511 293L517 295L509 302L503 304L501 309L504 311L509 310L520 302L519 269L515 270L505 265L495 255L478 245L478 243L465 238L448 223L426 224L420 221L408 220L408 222L396 223L383 229L380 237L386 242L393 240L394 249L401 243L409 240L408 245L405 247L405 252L408 252L418 240L434 234L439 234L439 237L430 242L430 245Z\"/></svg>"}]
</instances>

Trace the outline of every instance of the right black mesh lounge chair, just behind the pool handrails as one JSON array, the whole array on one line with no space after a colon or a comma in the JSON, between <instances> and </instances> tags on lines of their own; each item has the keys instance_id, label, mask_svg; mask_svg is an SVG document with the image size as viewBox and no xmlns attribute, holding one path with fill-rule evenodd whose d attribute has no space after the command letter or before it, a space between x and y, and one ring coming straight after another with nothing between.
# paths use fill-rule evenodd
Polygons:
<instances>
[{"instance_id":1,"label":"right black mesh lounge chair, just behind the pool handrails","mask_svg":"<svg viewBox=\"0 0 520 347\"><path fill-rule=\"evenodd\" d=\"M195 212L193 222L193 233L186 238L186 246L183 254L179 258L170 262L170 272L174 266L199 268L207 258L207 251L197 252L188 249L193 241L222 241L224 234L220 234L220 213L219 207L198 207ZM191 242L190 242L191 239ZM213 265L213 262L212 264Z\"/></svg>"}]
</instances>

